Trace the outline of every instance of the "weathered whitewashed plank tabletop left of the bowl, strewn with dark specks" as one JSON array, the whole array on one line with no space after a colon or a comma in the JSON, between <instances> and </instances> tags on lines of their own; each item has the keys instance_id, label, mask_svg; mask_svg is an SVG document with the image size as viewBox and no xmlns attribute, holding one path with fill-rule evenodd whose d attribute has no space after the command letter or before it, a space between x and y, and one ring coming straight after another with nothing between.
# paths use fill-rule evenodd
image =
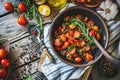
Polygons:
<instances>
[{"instance_id":1,"label":"weathered whitewashed plank tabletop left of the bowl, strewn with dark specks","mask_svg":"<svg viewBox=\"0 0 120 80\"><path fill-rule=\"evenodd\" d=\"M27 26L21 27L17 24L18 16L4 9L4 4L7 1L14 0L0 0L0 40L6 39L10 43L8 46L10 47L11 67L8 80L25 80L27 76L39 80L42 73L38 72L37 63L42 50L35 50L32 47L37 43L31 40Z\"/></svg>"}]
</instances>

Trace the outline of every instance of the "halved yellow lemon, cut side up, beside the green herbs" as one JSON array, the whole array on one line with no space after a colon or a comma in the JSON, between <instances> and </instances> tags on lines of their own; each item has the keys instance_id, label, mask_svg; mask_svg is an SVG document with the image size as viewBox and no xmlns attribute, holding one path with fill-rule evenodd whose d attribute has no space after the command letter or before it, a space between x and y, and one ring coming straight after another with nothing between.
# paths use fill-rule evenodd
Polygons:
<instances>
[{"instance_id":1,"label":"halved yellow lemon, cut side up, beside the green herbs","mask_svg":"<svg viewBox=\"0 0 120 80\"><path fill-rule=\"evenodd\" d=\"M40 5L38 7L38 11L40 12L40 14L44 15L44 16L49 16L51 9L48 5Z\"/></svg>"}]
</instances>

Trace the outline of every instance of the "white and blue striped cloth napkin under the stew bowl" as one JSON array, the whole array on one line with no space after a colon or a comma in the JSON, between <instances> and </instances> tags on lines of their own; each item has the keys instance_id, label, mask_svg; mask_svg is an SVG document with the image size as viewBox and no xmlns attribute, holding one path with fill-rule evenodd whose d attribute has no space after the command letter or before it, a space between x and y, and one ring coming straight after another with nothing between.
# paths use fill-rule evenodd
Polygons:
<instances>
[{"instance_id":1,"label":"white and blue striped cloth napkin under the stew bowl","mask_svg":"<svg viewBox=\"0 0 120 80\"><path fill-rule=\"evenodd\" d=\"M75 6L74 4L70 3L67 5L66 8ZM66 9L64 8L64 9ZM110 31L110 43L108 51L117 55L120 53L120 21L110 21L107 22ZM49 29L51 24L45 25L44 27L44 42L45 45L49 48L50 53L53 55L56 64L53 64L49 61L49 58L46 57L44 60L41 70L46 75L48 80L69 80L69 79L78 79L80 78L84 72L90 67L73 67L69 66L62 61L60 61L55 54L53 53L50 44L49 44ZM116 42L116 40L118 40ZM112 45L113 43L117 43L116 45ZM112 49L112 51L111 51Z\"/></svg>"}]
</instances>

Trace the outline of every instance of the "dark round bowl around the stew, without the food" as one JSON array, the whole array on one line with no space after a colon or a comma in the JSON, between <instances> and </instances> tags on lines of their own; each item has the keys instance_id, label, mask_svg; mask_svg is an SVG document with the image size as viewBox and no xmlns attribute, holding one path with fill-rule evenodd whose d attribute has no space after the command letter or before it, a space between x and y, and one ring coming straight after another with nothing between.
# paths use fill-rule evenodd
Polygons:
<instances>
[{"instance_id":1,"label":"dark round bowl around the stew, without the food","mask_svg":"<svg viewBox=\"0 0 120 80\"><path fill-rule=\"evenodd\" d=\"M73 15L77 15L77 14L81 14L83 16L88 16L91 20L93 20L95 22L96 25L98 25L101 29L102 29L102 40L101 40L101 45L106 48L107 44L108 44L108 29L106 24L104 23L103 19L94 11L84 8L84 7L71 7L69 9L66 9L64 11L62 11L60 14L58 14L56 16L56 18L54 19L52 26L50 28L50 45L52 47L52 50L54 51L54 53L56 54L56 56L63 61L66 64L72 65L72 66L77 66L77 67L81 67L81 66L88 66L90 64L95 63L96 61L98 61L102 54L99 51L99 49L96 49L94 51L94 60L90 61L90 62L83 62L83 63L74 63L71 61L68 61L67 59L65 59L59 51L57 51L55 49L54 46L54 42L53 42L53 35L54 32L57 30L57 27L59 27L59 25L62 24L62 22L64 21L65 16L73 16Z\"/></svg>"}]
</instances>

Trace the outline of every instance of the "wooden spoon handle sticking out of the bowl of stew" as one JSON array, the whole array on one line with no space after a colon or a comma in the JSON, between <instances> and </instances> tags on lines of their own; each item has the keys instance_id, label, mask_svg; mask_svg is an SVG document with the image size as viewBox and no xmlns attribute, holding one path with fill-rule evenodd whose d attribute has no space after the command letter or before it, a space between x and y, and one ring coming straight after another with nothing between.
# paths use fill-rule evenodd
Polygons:
<instances>
[{"instance_id":1,"label":"wooden spoon handle sticking out of the bowl of stew","mask_svg":"<svg viewBox=\"0 0 120 80\"><path fill-rule=\"evenodd\" d=\"M115 57L111 56L102 46L101 44L97 41L97 39L94 37L94 42L99 48L99 50L102 52L102 54L107 58L107 60L112 63L115 67L120 68L120 61L116 59Z\"/></svg>"}]
</instances>

